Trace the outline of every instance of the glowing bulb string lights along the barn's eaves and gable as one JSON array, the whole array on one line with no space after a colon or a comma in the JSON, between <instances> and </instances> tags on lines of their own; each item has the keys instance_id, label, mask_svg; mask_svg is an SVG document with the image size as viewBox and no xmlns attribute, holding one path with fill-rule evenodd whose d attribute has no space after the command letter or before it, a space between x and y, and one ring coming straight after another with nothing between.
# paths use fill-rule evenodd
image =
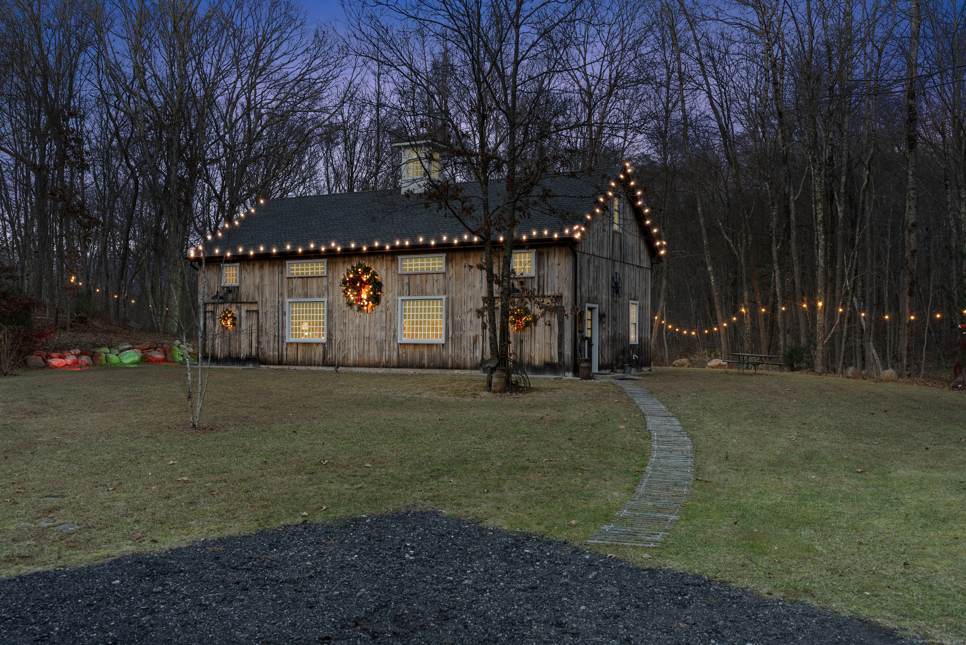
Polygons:
<instances>
[{"instance_id":1,"label":"glowing bulb string lights along the barn's eaves and gable","mask_svg":"<svg viewBox=\"0 0 966 645\"><path fill-rule=\"evenodd\" d=\"M630 193L630 194L632 194L632 196L634 198L640 198L640 197L642 197L644 191L641 190L640 188L635 188L635 186L637 185L637 182L635 180L631 179L631 175L632 175L633 172L634 172L634 167L631 165L631 162L630 161L625 161L624 162L624 169L623 169L623 171L621 171L621 172L619 172L617 174L617 180L619 182L623 182L627 186L627 188L628 188L627 192ZM617 182L615 182L615 181L611 181L611 182L609 182L609 184L610 184L610 188L616 188L617 187ZM606 192L607 196L608 197L611 197L611 198L615 194L614 191L611 190L611 189L608 189L605 192ZM257 201L258 201L258 204L259 205L264 205L265 202L266 202L266 200L264 198L261 198L261 197L258 198ZM601 204L605 204L606 205L607 204L607 197L605 197L603 195L602 196L598 196L597 197L597 201L600 202ZM641 210L641 212L644 215L650 213L650 207L645 206L642 199L635 199L635 200L632 200L632 201L634 201L634 204L636 206L640 207L640 210ZM213 241L213 238L214 237L217 237L217 238L223 237L222 236L222 233L221 233L221 231L219 229L225 228L225 229L231 230L231 222L232 221L235 222L235 226L236 227L241 226L241 219L245 216L245 212L246 211L247 211L248 214L254 214L254 213L257 212L257 210L255 209L254 206L250 206L247 209L241 209L240 212L237 213L236 216L232 220L225 221L225 222L219 222L218 223L218 227L214 231L213 234L206 234L204 236L206 238L206 240ZM595 209L593 209L593 213L596 213L596 214L604 214L604 211L601 210L601 209L595 208ZM586 212L584 214L584 216L588 220L588 222L593 221L593 219L594 219L593 213ZM650 227L651 226L651 220L650 219L646 219L644 221L644 226L645 227ZM551 240L554 240L554 239L559 240L560 238L574 238L575 240L580 240L583 237L583 234L586 233L586 230L587 229L586 229L585 226L582 226L580 224L574 224L574 225L566 226L562 230L544 229L543 231L538 231L536 229L532 229L532 230L529 231L529 233L517 232L517 233L515 233L514 238L519 238L521 241L537 241L537 240L539 240L541 238L546 239L547 241L551 241ZM657 255L659 257L662 257L662 256L665 256L667 254L667 252L668 252L668 241L666 239L658 239L658 238L656 238L657 233L658 233L658 228L657 227L653 227L653 228L651 228L651 230L649 232L647 232L647 236L650 239L650 242L652 244L652 247L656 251ZM453 235L451 235L449 233L440 233L439 234L439 238L442 241L444 241L444 242L445 241L449 241L449 239L452 239L453 244L454 245L458 245L459 244L459 235L460 234L457 234L457 235L453 236ZM463 235L463 241L469 243L469 234L464 233L462 235ZM499 236L499 241L502 242L503 240L504 240L504 236ZM481 239L478 236L473 236L472 237L472 242L479 243L480 241L481 241ZM437 244L437 238L436 237L432 237L432 236L419 236L418 237L418 242L413 241L412 239L402 238L402 239L396 239L395 240L395 244L393 244L391 242L388 242L388 243L385 243L385 244L381 244L380 241L378 239L376 239L374 241L374 243L371 245L371 247L373 248L373 250L379 249L379 250L384 250L384 251L388 252L388 251L392 251L394 247L395 248L398 248L398 249L412 248L412 246L415 246L417 243L418 244L425 245L428 248L435 248L436 247L436 244ZM340 244L336 240L332 240L330 242L329 248L332 249L332 250L334 250L335 252L339 253L339 252L342 251L343 245L345 245L345 244L344 243L341 243ZM308 247L308 252L310 252L310 253L325 253L327 251L327 247L326 247L326 244L325 243L319 243L318 248L316 248L316 242L315 242L315 240L309 240L308 242L305 243L305 246ZM350 240L348 246L349 246L349 248L351 248L354 251L355 251L356 247L358 246L363 252L367 252L369 250L369 248L370 248L370 245L369 244L367 244L367 243L359 243L356 240ZM285 244L285 250L286 251L289 251L289 252L292 252L292 248L293 248L293 244L291 242L286 242L286 244ZM295 253L297 255L298 254L304 254L304 251L305 251L305 249L304 249L303 246L297 246ZM244 252L245 252L244 245L239 246L238 254L239 255L244 255ZM278 253L278 250L277 250L277 247L272 247L270 251L267 251L264 244L259 244L258 245L258 251L255 251L254 248L248 248L247 249L247 256L249 258L254 258L257 254L262 254L262 253L266 253L266 254L268 254L268 253L277 254ZM198 256L203 256L204 254L205 254L204 244L199 244L198 245L197 252L195 251L195 249L193 247L188 251L188 257L191 258L191 259L194 259L195 257L198 257ZM218 255L221 255L220 247L215 247L214 250L213 250L213 256L218 256ZM231 256L232 256L232 252L226 248L225 249L225 252L224 252L224 255L222 257L224 259L228 259Z\"/></svg>"}]
</instances>

